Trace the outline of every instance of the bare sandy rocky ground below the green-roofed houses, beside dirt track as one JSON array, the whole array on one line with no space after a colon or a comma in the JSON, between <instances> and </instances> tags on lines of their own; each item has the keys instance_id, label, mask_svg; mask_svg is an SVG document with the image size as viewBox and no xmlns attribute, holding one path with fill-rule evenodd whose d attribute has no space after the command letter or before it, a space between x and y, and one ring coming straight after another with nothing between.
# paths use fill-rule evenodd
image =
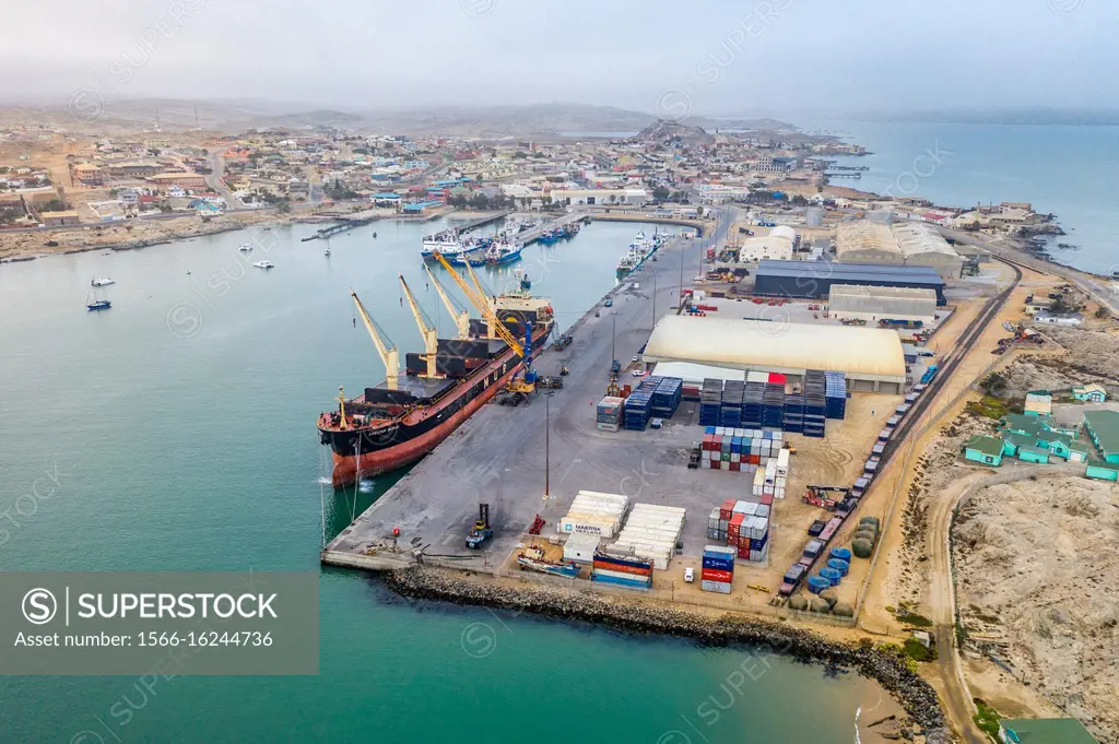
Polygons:
<instances>
[{"instance_id":1,"label":"bare sandy rocky ground below the green-roofed houses, beside dirt track","mask_svg":"<svg viewBox=\"0 0 1119 744\"><path fill-rule=\"evenodd\" d=\"M980 489L953 533L961 622L1015 670L990 687L1037 687L1101 741L1119 733L1117 508L1113 483L1026 480Z\"/></svg>"}]
</instances>

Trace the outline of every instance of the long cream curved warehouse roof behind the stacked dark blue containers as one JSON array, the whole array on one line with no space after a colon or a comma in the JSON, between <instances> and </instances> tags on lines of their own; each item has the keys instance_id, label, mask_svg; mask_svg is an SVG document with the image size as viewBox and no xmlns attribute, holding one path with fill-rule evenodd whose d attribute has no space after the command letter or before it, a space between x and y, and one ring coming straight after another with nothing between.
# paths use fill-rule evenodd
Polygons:
<instances>
[{"instance_id":1,"label":"long cream curved warehouse roof behind the stacked dark blue containers","mask_svg":"<svg viewBox=\"0 0 1119 744\"><path fill-rule=\"evenodd\" d=\"M905 379L902 342L895 331L780 320L667 316L653 329L645 359L770 371L825 369L884 382Z\"/></svg>"}]
</instances>

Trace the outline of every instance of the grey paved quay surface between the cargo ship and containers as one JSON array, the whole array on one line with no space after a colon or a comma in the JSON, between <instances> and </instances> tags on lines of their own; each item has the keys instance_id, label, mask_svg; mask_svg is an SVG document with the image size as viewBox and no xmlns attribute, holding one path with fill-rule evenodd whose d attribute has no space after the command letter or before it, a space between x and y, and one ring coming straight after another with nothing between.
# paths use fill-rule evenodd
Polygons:
<instances>
[{"instance_id":1,"label":"grey paved quay surface between the cargo ship and containers","mask_svg":"<svg viewBox=\"0 0 1119 744\"><path fill-rule=\"evenodd\" d=\"M427 564L493 571L504 565L521 544L533 518L546 520L544 535L555 535L555 525L567 512L580 490L626 493L631 502L686 506L686 550L702 549L707 514L712 505L741 493L744 483L733 477L699 482L699 471L688 470L684 420L696 417L698 404L681 404L677 416L662 430L600 432L595 428L595 404L605 393L611 362L611 310L617 314L617 356L623 361L637 354L652 329L651 272L658 266L658 312L671 312L679 288L681 241L674 238L659 264L638 270L609 293L613 308L599 302L570 331L571 346L555 351L549 346L537 355L540 375L558 374L561 365L571 374L564 389L549 399L551 496L545 502L545 399L532 396L519 407L487 405L417 463L393 488L342 530L323 550L323 563L372 571L411 563L405 552L413 538L426 547ZM685 281L698 269L695 243L686 247ZM671 269L669 269L671 267ZM633 289L633 282L640 289ZM600 317L594 317L595 310ZM557 329L560 330L560 329ZM621 384L633 378L621 379ZM680 418L679 425L677 418ZM709 473L708 473L709 474ZM340 497L339 497L340 498ZM493 537L483 550L471 550L464 539L478 518L478 503L490 505ZM392 547L393 528L398 527ZM378 546L370 555L369 548Z\"/></svg>"}]
</instances>

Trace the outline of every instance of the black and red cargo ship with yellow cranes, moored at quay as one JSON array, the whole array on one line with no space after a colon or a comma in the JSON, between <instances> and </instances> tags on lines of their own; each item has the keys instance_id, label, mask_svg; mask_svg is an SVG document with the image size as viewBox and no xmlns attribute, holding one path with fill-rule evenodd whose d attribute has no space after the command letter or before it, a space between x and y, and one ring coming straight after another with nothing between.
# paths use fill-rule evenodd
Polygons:
<instances>
[{"instance_id":1,"label":"black and red cargo ship with yellow cranes, moored at quay","mask_svg":"<svg viewBox=\"0 0 1119 744\"><path fill-rule=\"evenodd\" d=\"M388 377L349 399L339 388L338 407L319 416L320 440L333 452L335 488L421 459L513 380L523 358L498 337L525 339L533 350L547 342L555 323L547 299L524 290L485 295L492 310L487 314L504 326L498 331L488 321L469 318L435 275L429 272L429 276L455 319L459 333L457 338L436 338L434 326L402 276L405 296L425 339L424 352L405 355L403 371L396 346L351 292Z\"/></svg>"}]
</instances>

